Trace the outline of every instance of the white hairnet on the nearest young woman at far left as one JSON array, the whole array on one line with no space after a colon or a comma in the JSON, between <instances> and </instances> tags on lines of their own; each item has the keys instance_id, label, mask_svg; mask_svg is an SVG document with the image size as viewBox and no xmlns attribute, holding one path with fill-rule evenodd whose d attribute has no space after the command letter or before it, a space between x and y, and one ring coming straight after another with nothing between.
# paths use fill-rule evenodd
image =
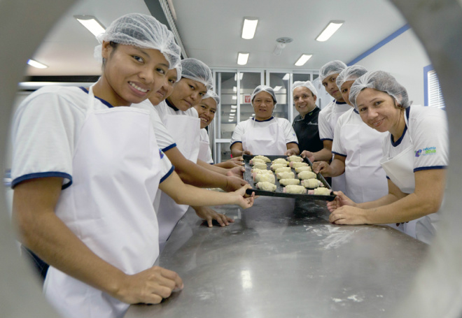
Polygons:
<instances>
[{"instance_id":1,"label":"white hairnet on the nearest young woman at far left","mask_svg":"<svg viewBox=\"0 0 462 318\"><path fill-rule=\"evenodd\" d=\"M179 63L180 47L175 43L174 35L164 24L151 15L129 13L114 20L103 34L97 36L99 43L103 41L123 45L133 45L138 48L159 50L173 68ZM101 57L102 46L94 48L97 59Z\"/></svg>"}]
</instances>

